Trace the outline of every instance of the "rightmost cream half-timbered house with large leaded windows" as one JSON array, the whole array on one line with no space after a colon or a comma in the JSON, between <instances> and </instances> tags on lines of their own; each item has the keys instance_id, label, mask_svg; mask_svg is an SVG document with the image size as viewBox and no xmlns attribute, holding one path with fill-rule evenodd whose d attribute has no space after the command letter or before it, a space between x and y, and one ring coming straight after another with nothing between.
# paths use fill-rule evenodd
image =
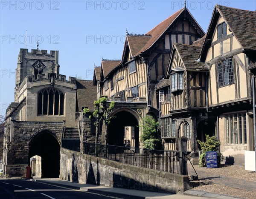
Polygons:
<instances>
[{"instance_id":1,"label":"rightmost cream half-timbered house with large leaded windows","mask_svg":"<svg viewBox=\"0 0 256 199\"><path fill-rule=\"evenodd\" d=\"M254 146L248 68L256 59L255 21L255 11L215 6L200 54L210 70L208 106L216 116L220 151L236 164L244 163L244 151L253 151Z\"/></svg>"}]
</instances>

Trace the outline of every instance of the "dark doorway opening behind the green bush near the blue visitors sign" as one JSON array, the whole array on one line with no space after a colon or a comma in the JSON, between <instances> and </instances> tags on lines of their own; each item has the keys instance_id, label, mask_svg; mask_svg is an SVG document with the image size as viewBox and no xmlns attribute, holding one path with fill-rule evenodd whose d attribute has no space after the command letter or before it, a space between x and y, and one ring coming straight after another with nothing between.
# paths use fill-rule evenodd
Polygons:
<instances>
[{"instance_id":1,"label":"dark doorway opening behind the green bush near the blue visitors sign","mask_svg":"<svg viewBox=\"0 0 256 199\"><path fill-rule=\"evenodd\" d=\"M201 121L198 123L197 128L197 140L201 140L202 142L206 141L206 135L214 136L215 135L215 124L214 122L208 121ZM198 145L198 151L201 150L201 147Z\"/></svg>"}]
</instances>

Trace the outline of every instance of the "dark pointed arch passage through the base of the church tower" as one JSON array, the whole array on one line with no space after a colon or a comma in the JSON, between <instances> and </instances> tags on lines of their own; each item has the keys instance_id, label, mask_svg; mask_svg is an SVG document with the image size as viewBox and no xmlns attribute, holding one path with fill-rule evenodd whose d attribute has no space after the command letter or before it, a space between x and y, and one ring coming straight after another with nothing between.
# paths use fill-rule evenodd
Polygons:
<instances>
[{"instance_id":1,"label":"dark pointed arch passage through the base of the church tower","mask_svg":"<svg viewBox=\"0 0 256 199\"><path fill-rule=\"evenodd\" d=\"M60 144L48 131L35 136L29 143L29 159L41 156L41 178L58 178L60 174Z\"/></svg>"}]
</instances>

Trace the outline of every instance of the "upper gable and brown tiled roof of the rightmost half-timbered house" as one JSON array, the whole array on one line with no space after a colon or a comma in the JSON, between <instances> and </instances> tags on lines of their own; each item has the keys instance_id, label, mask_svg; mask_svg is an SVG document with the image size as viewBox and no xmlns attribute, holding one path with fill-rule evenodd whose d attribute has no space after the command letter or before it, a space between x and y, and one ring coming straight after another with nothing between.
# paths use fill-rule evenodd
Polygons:
<instances>
[{"instance_id":1,"label":"upper gable and brown tiled roof of the rightmost half-timbered house","mask_svg":"<svg viewBox=\"0 0 256 199\"><path fill-rule=\"evenodd\" d=\"M255 21L256 11L216 5L200 54L201 61L205 62L212 43L228 40L233 36L238 43L236 47L241 48L243 52L256 51Z\"/></svg>"}]
</instances>

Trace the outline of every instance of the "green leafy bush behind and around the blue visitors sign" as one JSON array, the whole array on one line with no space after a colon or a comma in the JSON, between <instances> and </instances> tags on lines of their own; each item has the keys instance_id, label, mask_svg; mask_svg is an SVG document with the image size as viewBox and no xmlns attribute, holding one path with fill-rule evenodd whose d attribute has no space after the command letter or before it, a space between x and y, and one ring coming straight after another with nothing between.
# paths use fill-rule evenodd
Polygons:
<instances>
[{"instance_id":1,"label":"green leafy bush behind and around the blue visitors sign","mask_svg":"<svg viewBox=\"0 0 256 199\"><path fill-rule=\"evenodd\" d=\"M199 157L199 167L203 167L205 165L205 159L207 151L218 151L219 146L221 145L221 142L219 142L215 136L206 136L206 141L202 142L201 140L198 140L199 145L201 146L202 154ZM221 153L217 153L217 161L218 165L221 164L221 161L223 160L223 155Z\"/></svg>"}]
</instances>

